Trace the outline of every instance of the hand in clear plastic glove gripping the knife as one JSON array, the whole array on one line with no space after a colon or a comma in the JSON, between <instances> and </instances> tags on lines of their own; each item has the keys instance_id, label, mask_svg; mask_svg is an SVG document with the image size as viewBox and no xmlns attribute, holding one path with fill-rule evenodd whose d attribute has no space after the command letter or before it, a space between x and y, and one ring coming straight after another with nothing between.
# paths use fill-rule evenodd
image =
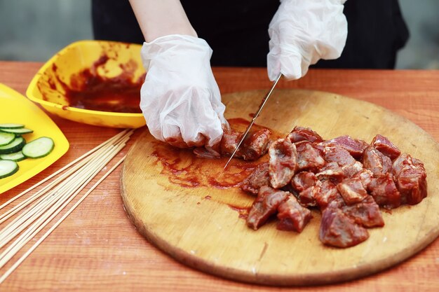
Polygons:
<instances>
[{"instance_id":1,"label":"hand in clear plastic glove gripping the knife","mask_svg":"<svg viewBox=\"0 0 439 292\"><path fill-rule=\"evenodd\" d=\"M301 78L318 60L342 55L347 36L345 1L281 0L269 24L271 81L279 73L288 79Z\"/></svg>"}]
</instances>

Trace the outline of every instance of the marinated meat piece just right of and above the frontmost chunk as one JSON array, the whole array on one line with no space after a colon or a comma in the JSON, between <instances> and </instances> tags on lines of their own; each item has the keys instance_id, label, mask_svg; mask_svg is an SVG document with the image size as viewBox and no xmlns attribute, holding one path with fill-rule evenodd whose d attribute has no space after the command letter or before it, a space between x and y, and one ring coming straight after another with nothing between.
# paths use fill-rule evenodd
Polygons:
<instances>
[{"instance_id":1,"label":"marinated meat piece just right of and above the frontmost chunk","mask_svg":"<svg viewBox=\"0 0 439 292\"><path fill-rule=\"evenodd\" d=\"M370 195L367 195L365 200L358 204L345 205L341 209L344 214L353 218L353 221L365 228L384 226L379 206Z\"/></svg>"}]
</instances>

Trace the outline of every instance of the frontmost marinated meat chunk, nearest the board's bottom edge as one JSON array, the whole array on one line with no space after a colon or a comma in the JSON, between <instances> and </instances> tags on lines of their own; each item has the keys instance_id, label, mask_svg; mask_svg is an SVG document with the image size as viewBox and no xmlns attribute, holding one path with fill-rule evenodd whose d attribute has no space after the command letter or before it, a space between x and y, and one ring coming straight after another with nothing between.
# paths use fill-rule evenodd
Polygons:
<instances>
[{"instance_id":1,"label":"frontmost marinated meat chunk, nearest the board's bottom edge","mask_svg":"<svg viewBox=\"0 0 439 292\"><path fill-rule=\"evenodd\" d=\"M323 244L349 247L364 242L369 233L363 226L338 208L328 207L323 211L319 238Z\"/></svg>"}]
</instances>

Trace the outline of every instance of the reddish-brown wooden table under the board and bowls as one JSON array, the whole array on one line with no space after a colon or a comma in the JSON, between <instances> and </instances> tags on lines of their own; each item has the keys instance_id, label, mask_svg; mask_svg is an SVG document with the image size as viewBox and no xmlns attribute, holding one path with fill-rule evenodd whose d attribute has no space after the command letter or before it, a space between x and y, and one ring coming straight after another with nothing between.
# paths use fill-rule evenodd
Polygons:
<instances>
[{"instance_id":1,"label":"reddish-brown wooden table under the board and bowls","mask_svg":"<svg viewBox=\"0 0 439 292\"><path fill-rule=\"evenodd\" d=\"M0 62L0 83L25 94L39 67L41 63ZM222 94L271 85L265 69L215 68L214 74ZM379 104L412 120L439 141L439 71L311 69L299 81L280 81L278 88L335 92ZM69 140L69 151L45 171L1 194L0 204L119 132L51 118ZM127 151L128 147L123 153ZM0 291L439 290L439 239L389 270L330 286L255 286L198 272L177 263L135 230L123 210L120 171L121 167L101 183L1 284Z\"/></svg>"}]
</instances>

